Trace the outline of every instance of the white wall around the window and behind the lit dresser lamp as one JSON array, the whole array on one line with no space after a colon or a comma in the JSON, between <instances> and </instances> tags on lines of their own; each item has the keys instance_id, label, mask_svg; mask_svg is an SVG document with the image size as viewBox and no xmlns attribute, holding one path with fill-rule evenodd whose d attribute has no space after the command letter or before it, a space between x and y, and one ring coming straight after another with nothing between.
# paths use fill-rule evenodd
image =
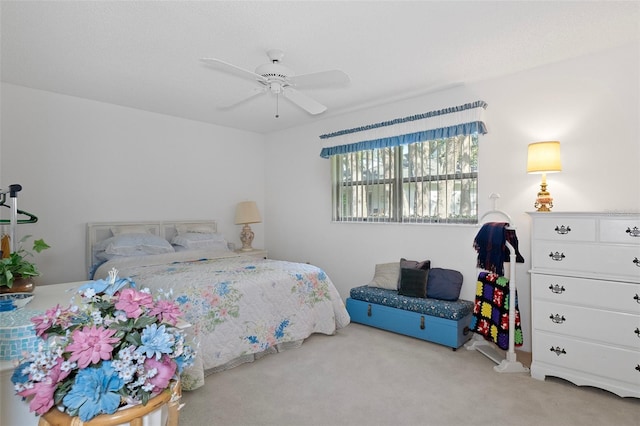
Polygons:
<instances>
[{"instance_id":1,"label":"white wall around the window and behind the lit dresser lamp","mask_svg":"<svg viewBox=\"0 0 640 426\"><path fill-rule=\"evenodd\" d=\"M478 270L475 226L331 223L330 164L323 133L476 100L488 103L480 139L480 214L499 208L518 228L525 264L517 266L520 311L530 350L529 217L540 176L527 175L527 145L561 142L563 171L548 176L554 211L640 211L639 46L633 44L491 81L331 117L267 138L266 233L272 257L323 267L343 297L369 282L374 265L400 257L464 275L473 300ZM500 220L489 217L487 220Z\"/></svg>"}]
</instances>

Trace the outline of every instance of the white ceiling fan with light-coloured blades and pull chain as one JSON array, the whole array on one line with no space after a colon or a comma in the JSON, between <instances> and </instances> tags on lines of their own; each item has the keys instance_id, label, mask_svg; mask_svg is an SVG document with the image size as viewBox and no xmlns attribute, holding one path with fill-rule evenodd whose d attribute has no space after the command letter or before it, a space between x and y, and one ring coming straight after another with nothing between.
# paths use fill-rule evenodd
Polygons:
<instances>
[{"instance_id":1,"label":"white ceiling fan with light-coloured blades and pull chain","mask_svg":"<svg viewBox=\"0 0 640 426\"><path fill-rule=\"evenodd\" d=\"M276 95L276 118L279 117L279 95L283 95L289 101L307 111L309 114L320 114L326 111L327 107L310 96L300 92L298 89L342 86L348 84L350 81L349 76L340 70L295 75L291 69L280 63L284 57L284 52L282 50L268 50L267 56L271 62L260 65L256 68L255 72L245 70L238 66L221 61L220 59L201 59L203 63L212 68L247 80L252 80L257 83L257 86L251 89L244 96L229 104L221 105L220 108L232 108L263 93L273 93Z\"/></svg>"}]
</instances>

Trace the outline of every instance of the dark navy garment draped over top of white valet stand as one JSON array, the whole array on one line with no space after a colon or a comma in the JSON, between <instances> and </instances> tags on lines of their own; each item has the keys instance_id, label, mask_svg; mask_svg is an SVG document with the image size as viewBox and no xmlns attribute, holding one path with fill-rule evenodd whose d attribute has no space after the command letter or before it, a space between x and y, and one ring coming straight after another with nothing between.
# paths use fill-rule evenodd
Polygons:
<instances>
[{"instance_id":1,"label":"dark navy garment draped over top of white valet stand","mask_svg":"<svg viewBox=\"0 0 640 426\"><path fill-rule=\"evenodd\" d=\"M473 248L478 252L477 267L504 275L504 263L509 262L509 248L505 241L516 251L516 262L524 263L524 258L518 251L518 237L515 229L507 229L506 222L488 222L482 225L473 240Z\"/></svg>"}]
</instances>

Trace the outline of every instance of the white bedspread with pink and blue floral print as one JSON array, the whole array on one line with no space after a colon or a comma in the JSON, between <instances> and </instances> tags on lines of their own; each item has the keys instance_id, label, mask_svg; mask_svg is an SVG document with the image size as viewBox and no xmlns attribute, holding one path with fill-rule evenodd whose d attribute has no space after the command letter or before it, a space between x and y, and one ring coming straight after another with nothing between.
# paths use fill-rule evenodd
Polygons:
<instances>
[{"instance_id":1,"label":"white bedspread with pink and blue floral print","mask_svg":"<svg viewBox=\"0 0 640 426\"><path fill-rule=\"evenodd\" d=\"M180 305L199 345L194 367L182 376L185 390L202 386L207 370L313 333L333 334L350 320L327 274L313 265L183 252L177 259L111 260L96 278L112 267L139 288L171 291Z\"/></svg>"}]
</instances>

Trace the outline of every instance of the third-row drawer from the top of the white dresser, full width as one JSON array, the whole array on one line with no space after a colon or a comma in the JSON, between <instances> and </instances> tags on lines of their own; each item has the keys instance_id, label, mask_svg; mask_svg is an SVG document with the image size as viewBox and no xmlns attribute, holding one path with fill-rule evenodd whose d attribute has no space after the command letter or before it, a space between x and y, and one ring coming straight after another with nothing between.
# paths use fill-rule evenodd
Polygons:
<instances>
[{"instance_id":1,"label":"third-row drawer from the top of the white dresser, full width","mask_svg":"<svg viewBox=\"0 0 640 426\"><path fill-rule=\"evenodd\" d=\"M640 284L532 274L531 297L640 315Z\"/></svg>"}]
</instances>

